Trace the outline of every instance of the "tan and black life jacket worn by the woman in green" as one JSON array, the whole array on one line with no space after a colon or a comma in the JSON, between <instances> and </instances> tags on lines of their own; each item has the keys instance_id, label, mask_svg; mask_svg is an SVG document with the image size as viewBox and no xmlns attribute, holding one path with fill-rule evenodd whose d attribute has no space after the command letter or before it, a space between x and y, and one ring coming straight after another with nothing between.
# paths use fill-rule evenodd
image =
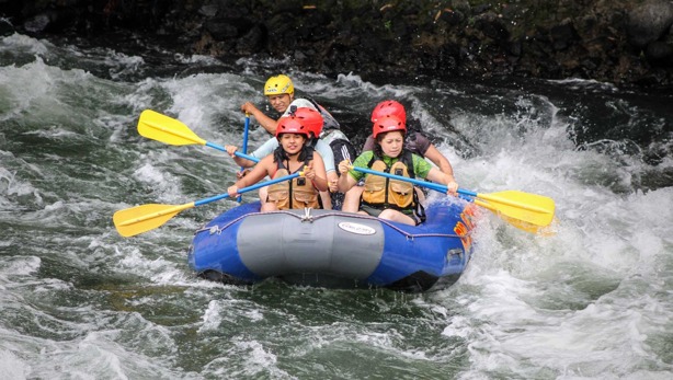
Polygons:
<instances>
[{"instance_id":1,"label":"tan and black life jacket worn by the woman in green","mask_svg":"<svg viewBox=\"0 0 673 380\"><path fill-rule=\"evenodd\" d=\"M376 154L367 166L372 170L401 175L410 179L415 177L413 172L413 158L410 151L402 151L400 159L388 166ZM420 205L413 184L404 181L392 180L381 175L368 174L365 177L365 191L362 201L373 208L392 208L402 214L414 214L424 221L425 212Z\"/></svg>"}]
</instances>

